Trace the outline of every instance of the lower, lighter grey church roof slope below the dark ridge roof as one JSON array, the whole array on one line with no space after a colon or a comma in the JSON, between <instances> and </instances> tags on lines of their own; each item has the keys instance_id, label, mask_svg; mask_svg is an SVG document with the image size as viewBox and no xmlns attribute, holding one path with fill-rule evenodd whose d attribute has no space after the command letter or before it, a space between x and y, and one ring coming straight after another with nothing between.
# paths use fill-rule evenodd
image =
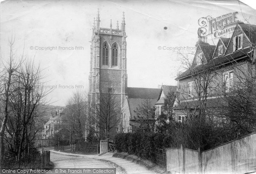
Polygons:
<instances>
[{"instance_id":1,"label":"lower, lighter grey church roof slope below the dark ridge roof","mask_svg":"<svg viewBox=\"0 0 256 174\"><path fill-rule=\"evenodd\" d=\"M128 106L130 109L130 114L131 114L131 118L132 120L137 120L139 119L137 117L137 109L140 108L140 106L143 104L143 102L145 102L146 99L142 99L142 98L129 98L128 99ZM155 102L157 101L157 99L148 99L151 103L151 107L154 107Z\"/></svg>"}]
</instances>

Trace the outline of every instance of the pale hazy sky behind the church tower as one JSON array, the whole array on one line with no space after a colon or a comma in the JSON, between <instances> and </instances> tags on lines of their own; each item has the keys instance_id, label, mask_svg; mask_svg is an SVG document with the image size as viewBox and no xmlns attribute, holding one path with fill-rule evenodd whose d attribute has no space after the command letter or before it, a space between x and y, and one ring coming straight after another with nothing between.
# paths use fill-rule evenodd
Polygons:
<instances>
[{"instance_id":1,"label":"pale hazy sky behind the church tower","mask_svg":"<svg viewBox=\"0 0 256 174\"><path fill-rule=\"evenodd\" d=\"M98 8L103 28L110 27L111 19L113 28L117 20L120 26L125 12L128 87L176 85L182 65L173 49L195 50L201 17L237 11L240 21L256 25L255 9L237 0L6 0L0 4L3 62L8 40L15 36L17 56L24 49L40 64L45 86L55 87L47 98L64 106L76 90L88 89L91 28Z\"/></svg>"}]
</instances>

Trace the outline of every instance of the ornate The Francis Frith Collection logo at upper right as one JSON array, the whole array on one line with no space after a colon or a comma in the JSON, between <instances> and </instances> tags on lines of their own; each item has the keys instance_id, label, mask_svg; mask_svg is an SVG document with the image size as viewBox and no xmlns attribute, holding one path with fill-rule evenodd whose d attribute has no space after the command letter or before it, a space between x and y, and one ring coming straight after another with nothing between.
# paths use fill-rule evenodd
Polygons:
<instances>
[{"instance_id":1,"label":"ornate The Francis Frith Collection logo at upper right","mask_svg":"<svg viewBox=\"0 0 256 174\"><path fill-rule=\"evenodd\" d=\"M212 18L211 16L201 17L198 20L198 36L212 35L214 38L230 34L235 30L238 12L223 14L219 17Z\"/></svg>"}]
</instances>

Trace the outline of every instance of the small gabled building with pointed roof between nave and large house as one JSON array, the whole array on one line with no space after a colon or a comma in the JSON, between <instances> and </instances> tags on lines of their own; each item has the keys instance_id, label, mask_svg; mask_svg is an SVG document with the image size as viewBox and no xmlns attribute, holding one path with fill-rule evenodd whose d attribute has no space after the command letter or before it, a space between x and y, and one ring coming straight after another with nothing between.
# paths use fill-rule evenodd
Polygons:
<instances>
[{"instance_id":1,"label":"small gabled building with pointed roof between nave and large house","mask_svg":"<svg viewBox=\"0 0 256 174\"><path fill-rule=\"evenodd\" d=\"M172 106L169 107L176 107L178 105L178 101L176 98L176 86L169 86L169 85L162 85L160 88L160 92L157 98L157 102L155 103L155 107L156 107L156 111L155 111L155 118L157 119L159 115L161 114L168 114L164 109L164 105L166 100L168 100L168 98L170 98L170 100L173 101L169 101L170 104ZM157 121L156 121L157 124Z\"/></svg>"}]
</instances>

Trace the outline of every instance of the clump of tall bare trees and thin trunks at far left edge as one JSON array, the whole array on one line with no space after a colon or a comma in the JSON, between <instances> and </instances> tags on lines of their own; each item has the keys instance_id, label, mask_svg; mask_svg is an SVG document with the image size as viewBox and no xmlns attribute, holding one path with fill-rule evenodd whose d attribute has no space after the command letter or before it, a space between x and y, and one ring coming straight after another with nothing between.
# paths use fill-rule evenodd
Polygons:
<instances>
[{"instance_id":1,"label":"clump of tall bare trees and thin trunks at far left edge","mask_svg":"<svg viewBox=\"0 0 256 174\"><path fill-rule=\"evenodd\" d=\"M4 114L0 129L0 157L3 162L4 142L20 161L22 154L28 154L37 129L35 119L40 116L38 106L46 101L44 97L51 91L42 88L40 67L35 67L28 56L17 57L13 51L15 39L10 41L8 66L3 71L1 103Z\"/></svg>"}]
</instances>

